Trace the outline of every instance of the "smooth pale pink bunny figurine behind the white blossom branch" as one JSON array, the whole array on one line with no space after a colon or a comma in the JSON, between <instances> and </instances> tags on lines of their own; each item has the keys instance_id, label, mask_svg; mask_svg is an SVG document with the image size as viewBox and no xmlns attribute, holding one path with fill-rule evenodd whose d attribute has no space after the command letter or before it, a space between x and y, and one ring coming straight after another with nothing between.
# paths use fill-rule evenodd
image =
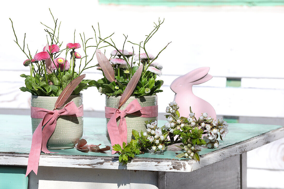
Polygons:
<instances>
[{"instance_id":1,"label":"smooth pale pink bunny figurine behind the white blossom branch","mask_svg":"<svg viewBox=\"0 0 284 189\"><path fill-rule=\"evenodd\" d=\"M208 74L209 69L209 67L202 67L192 70L176 78L170 85L172 91L176 93L174 100L179 106L180 116L188 117L190 113L189 106L191 106L191 110L195 113L197 119L202 113L206 112L208 117L210 116L216 120L216 112L211 104L195 96L192 92L192 85L204 83L212 78L212 75Z\"/></svg>"}]
</instances>

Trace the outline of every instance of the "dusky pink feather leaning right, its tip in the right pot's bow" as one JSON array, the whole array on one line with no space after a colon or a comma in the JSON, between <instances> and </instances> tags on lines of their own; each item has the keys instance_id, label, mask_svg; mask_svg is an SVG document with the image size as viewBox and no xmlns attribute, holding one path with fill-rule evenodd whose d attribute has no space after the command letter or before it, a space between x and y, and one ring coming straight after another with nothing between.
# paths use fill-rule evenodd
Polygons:
<instances>
[{"instance_id":1,"label":"dusky pink feather leaning right, its tip in the right pot's bow","mask_svg":"<svg viewBox=\"0 0 284 189\"><path fill-rule=\"evenodd\" d=\"M139 66L139 68L136 70L136 72L131 77L130 81L128 82L126 88L124 89L124 92L121 95L121 98L118 102L119 106L118 109L128 100L128 98L132 95L143 70L143 64Z\"/></svg>"}]
</instances>

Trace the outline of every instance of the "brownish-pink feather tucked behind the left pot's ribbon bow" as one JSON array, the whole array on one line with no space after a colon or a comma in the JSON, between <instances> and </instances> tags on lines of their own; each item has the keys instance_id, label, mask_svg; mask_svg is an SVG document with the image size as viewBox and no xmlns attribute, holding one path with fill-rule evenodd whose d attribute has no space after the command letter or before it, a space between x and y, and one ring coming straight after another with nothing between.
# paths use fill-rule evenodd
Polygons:
<instances>
[{"instance_id":1,"label":"brownish-pink feather tucked behind the left pot's ribbon bow","mask_svg":"<svg viewBox=\"0 0 284 189\"><path fill-rule=\"evenodd\" d=\"M81 81L83 81L85 76L86 76L86 74L83 74L83 75L76 77L65 87L65 89L59 95L59 97L57 98L57 100L54 104L54 107L55 107L54 110L56 110L57 108L62 108L64 102L67 100L67 98L69 98L69 96L72 94L74 89L79 85L79 83L81 83Z\"/></svg>"}]
</instances>

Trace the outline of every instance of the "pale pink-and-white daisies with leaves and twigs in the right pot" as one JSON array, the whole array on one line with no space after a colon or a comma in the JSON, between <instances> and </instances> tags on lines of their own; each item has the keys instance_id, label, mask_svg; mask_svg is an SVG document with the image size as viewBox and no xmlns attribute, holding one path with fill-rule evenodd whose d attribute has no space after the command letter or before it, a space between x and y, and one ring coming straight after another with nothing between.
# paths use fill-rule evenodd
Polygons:
<instances>
[{"instance_id":1,"label":"pale pink-and-white daisies with leaves and twigs in the right pot","mask_svg":"<svg viewBox=\"0 0 284 189\"><path fill-rule=\"evenodd\" d=\"M127 41L128 36L124 35L124 43L120 45L120 48L118 48L113 40L107 41L106 39L101 39L104 43L106 43L107 46L112 47L110 57L106 57L104 60L109 60L109 64L114 71L115 83L112 83L114 79L108 80L107 77L105 77L109 73L113 72L111 70L106 70L104 66L97 64L97 66L102 68L102 70L99 70L103 71L104 75L104 78L99 79L96 82L98 90L100 87L102 87L102 93L105 95L121 96L133 75L137 73L138 68L141 67L142 72L139 82L137 83L137 86L135 87L131 96L151 96L162 92L160 87L163 85L163 81L159 80L158 77L162 75L161 70L163 67L161 64L158 64L154 61L168 45L166 45L160 52L155 54L149 53L146 47L148 41L153 37L154 33L156 33L163 22L164 21L159 19L158 23L155 24L154 29L149 33L149 35L146 35L145 40L141 43ZM129 47L129 45L134 45L132 50L130 50L130 48L125 48L126 46ZM137 47L136 52L139 51L139 53L135 54L134 47ZM105 56L105 54L108 53L103 54ZM102 56L102 54L100 56Z\"/></svg>"}]
</instances>

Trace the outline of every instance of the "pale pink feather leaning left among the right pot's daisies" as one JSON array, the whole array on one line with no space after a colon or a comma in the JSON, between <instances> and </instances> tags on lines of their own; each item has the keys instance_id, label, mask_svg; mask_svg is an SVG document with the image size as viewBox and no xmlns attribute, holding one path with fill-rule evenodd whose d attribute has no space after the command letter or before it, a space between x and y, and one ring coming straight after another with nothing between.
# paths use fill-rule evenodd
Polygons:
<instances>
[{"instance_id":1,"label":"pale pink feather leaning left among the right pot's daisies","mask_svg":"<svg viewBox=\"0 0 284 189\"><path fill-rule=\"evenodd\" d=\"M99 49L97 49L96 55L97 55L97 60L99 62L99 65L102 68L106 79L110 82L114 81L115 79L114 70L112 66L110 65L110 62L108 61L106 56Z\"/></svg>"}]
</instances>

